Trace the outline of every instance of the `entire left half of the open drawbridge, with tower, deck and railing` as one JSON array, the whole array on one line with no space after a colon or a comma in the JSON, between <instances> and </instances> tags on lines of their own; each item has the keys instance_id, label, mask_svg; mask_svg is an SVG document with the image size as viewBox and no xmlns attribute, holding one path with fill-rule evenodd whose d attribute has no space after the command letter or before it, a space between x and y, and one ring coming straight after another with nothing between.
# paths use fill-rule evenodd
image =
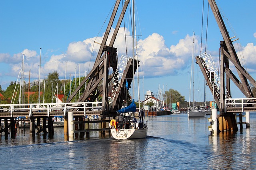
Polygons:
<instances>
[{"instance_id":1,"label":"entire left half of the open drawbridge, with tower, deck and railing","mask_svg":"<svg viewBox=\"0 0 256 170\"><path fill-rule=\"evenodd\" d=\"M125 0L124 4L120 3L121 0L116 0L110 20L106 27L104 37L100 44L100 48L91 71L86 75L84 80L79 84L76 90L70 95L66 103L62 104L9 104L2 105L4 109L0 109L0 117L5 119L4 129L0 127L0 133L5 132L8 134L8 128L12 128L12 134L15 134L14 117L29 117L30 119L30 132L35 133L35 127L38 133L44 131L46 127L49 133L53 134L52 117L64 116L64 133L67 131L68 125L65 125L69 119L68 113L72 112L76 122L79 124L79 129L84 129L84 123L88 120L84 118L87 115L100 115L100 119L95 123L102 123L102 128L98 131L107 131L106 123L110 122L110 117L117 116L117 110L123 106L124 99L127 96L128 88L132 83L132 77L137 69L139 61L133 60L125 56L118 59L117 48L114 47L114 42L118 34L118 30L123 21L124 14L130 0ZM119 14L119 16L117 16ZM115 22L114 22L115 21ZM114 23L116 26L114 27ZM110 36L110 29L114 27L114 33ZM107 44L107 41L109 42ZM119 63L118 63L119 61ZM133 63L136 63L133 65ZM86 84L86 88L78 100L75 100L79 95L80 89ZM102 102L94 102L102 96ZM77 98L76 98L77 99ZM73 102L76 101L76 102ZM58 111L56 111L58 110ZM107 119L106 119L107 117ZM7 126L7 120L10 119L11 123ZM35 119L37 125L35 125ZM43 119L43 128L40 126L40 119ZM46 125L48 119L48 125ZM0 121L1 123L1 121ZM66 130L65 130L66 129ZM78 130L78 128L76 129ZM89 132L92 129L88 129ZM97 129L95 130L97 131ZM78 133L76 131L75 133Z\"/></svg>"}]
</instances>

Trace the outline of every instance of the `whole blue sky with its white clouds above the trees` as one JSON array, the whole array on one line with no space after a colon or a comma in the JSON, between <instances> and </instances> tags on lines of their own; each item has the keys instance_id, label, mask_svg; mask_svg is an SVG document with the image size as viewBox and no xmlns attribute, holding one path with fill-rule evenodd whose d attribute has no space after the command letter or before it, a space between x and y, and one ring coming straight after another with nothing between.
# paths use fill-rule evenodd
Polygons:
<instances>
[{"instance_id":1,"label":"whole blue sky with its white clouds above the trees","mask_svg":"<svg viewBox=\"0 0 256 170\"><path fill-rule=\"evenodd\" d=\"M80 75L93 65L104 31L109 21L115 0L8 0L0 1L0 85L3 89L16 81L24 59L24 75L28 82L38 80L39 54L42 47L41 78L57 70L60 79ZM256 13L255 0L218 0L219 9L230 33L239 38L235 45L246 63L248 72L256 79ZM122 2L121 2L122 3ZM140 60L140 94L146 90L158 94L158 89L172 88L189 100L192 40L195 32L195 55L200 54L203 0L182 2L170 0L136 0L138 57ZM206 41L206 15L208 2L204 3L202 51ZM129 11L129 10L128 10ZM128 11L126 13L128 13ZM105 22L105 23L104 23ZM125 17L126 33L130 26ZM228 25L231 25L229 27ZM131 33L130 33L131 34ZM97 38L96 38L97 37ZM207 53L218 61L220 30L209 9ZM130 43L131 44L131 43ZM128 43L128 45L130 45ZM118 55L124 54L124 25L121 25L114 47ZM92 52L93 51L93 52ZM91 55L92 53L92 55ZM128 54L129 55L129 54ZM130 56L130 55L129 55ZM91 59L92 57L92 59ZM90 63L91 61L91 63ZM198 66L195 82L195 100L203 101L204 82ZM200 86L198 86L198 84ZM243 95L232 85L232 97ZM234 89L234 90L233 90ZM206 99L212 95L206 88ZM135 97L136 99L136 97Z\"/></svg>"}]
</instances>

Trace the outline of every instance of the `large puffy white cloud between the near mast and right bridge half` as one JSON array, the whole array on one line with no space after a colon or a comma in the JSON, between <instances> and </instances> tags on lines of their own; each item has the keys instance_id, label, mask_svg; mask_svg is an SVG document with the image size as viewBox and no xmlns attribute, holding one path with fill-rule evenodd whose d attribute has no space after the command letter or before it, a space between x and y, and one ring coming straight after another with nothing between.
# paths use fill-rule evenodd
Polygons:
<instances>
[{"instance_id":1,"label":"large puffy white cloud between the near mast and right bridge half","mask_svg":"<svg viewBox=\"0 0 256 170\"><path fill-rule=\"evenodd\" d=\"M198 42L197 40L195 41ZM169 76L177 74L190 64L192 58L193 37L186 35L178 44L170 49L166 46L164 37L153 33L138 42L139 59L144 64L144 76ZM198 44L196 44L198 47Z\"/></svg>"}]
</instances>

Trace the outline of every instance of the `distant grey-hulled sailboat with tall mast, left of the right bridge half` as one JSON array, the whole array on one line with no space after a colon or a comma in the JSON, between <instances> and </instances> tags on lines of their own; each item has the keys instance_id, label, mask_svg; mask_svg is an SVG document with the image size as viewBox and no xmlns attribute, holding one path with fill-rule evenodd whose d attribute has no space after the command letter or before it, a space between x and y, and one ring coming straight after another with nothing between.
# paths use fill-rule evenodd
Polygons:
<instances>
[{"instance_id":1,"label":"distant grey-hulled sailboat with tall mast, left of the right bridge half","mask_svg":"<svg viewBox=\"0 0 256 170\"><path fill-rule=\"evenodd\" d=\"M192 55L192 66L191 66L191 76L193 74L193 107L192 110L188 111L188 117L205 117L206 111L202 109L201 107L195 107L195 100L194 100L194 37L195 33L193 35L193 55ZM192 78L191 78L192 80ZM190 83L190 89L191 89L191 83ZM191 91L191 90L190 90ZM190 104L190 102L189 102ZM190 106L188 106L190 108Z\"/></svg>"}]
</instances>

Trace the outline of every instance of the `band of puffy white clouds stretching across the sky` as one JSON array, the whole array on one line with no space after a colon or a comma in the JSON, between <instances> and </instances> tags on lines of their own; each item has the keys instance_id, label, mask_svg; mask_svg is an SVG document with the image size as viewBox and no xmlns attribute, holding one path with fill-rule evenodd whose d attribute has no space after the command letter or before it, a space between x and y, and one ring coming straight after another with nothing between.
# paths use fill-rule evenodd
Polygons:
<instances>
[{"instance_id":1,"label":"band of puffy white clouds stretching across the sky","mask_svg":"<svg viewBox=\"0 0 256 170\"><path fill-rule=\"evenodd\" d=\"M111 29L109 37L112 37L113 31L114 29ZM118 56L122 54L126 55L126 50L128 57L132 56L132 37L130 35L131 33L127 29L125 32L123 27L119 29L114 43L114 47L118 49ZM254 33L254 36L256 36L256 33ZM127 46L124 43L125 38ZM43 74L48 75L49 72L57 70L60 77L64 78L66 70L66 77L69 77L68 75L70 73L73 76L75 68L76 72L79 72L80 64L80 73L84 75L84 72L90 70L94 65L100 47L98 43L101 43L102 39L103 35L97 38L88 38L84 41L72 42L68 45L65 54L51 55L46 62L44 62L45 59L42 59L41 70ZM109 45L109 42L110 39L107 40L106 45ZM195 37L194 42L196 56L196 53L200 51L198 50L200 49L198 37ZM168 47L162 35L153 33L146 37L146 39L139 40L137 49L141 66L140 71L142 72L140 75L143 74L145 78L182 74L181 72L186 68L190 68L191 65L193 36L186 35L176 45ZM244 55L244 61L248 64L248 71L256 72L254 69L254 65L256 64L256 46L253 43L248 43L246 47L239 46L238 49L240 49L238 53ZM38 78L39 55L36 51L29 49L24 49L22 53L26 57L24 75L28 78L29 70L31 70L30 78ZM218 55L218 51L211 53L211 55ZM18 53L11 57L9 54L0 54L0 62L10 64L12 71L5 74L17 77L22 62L22 55ZM88 69L89 66L90 69Z\"/></svg>"}]
</instances>

